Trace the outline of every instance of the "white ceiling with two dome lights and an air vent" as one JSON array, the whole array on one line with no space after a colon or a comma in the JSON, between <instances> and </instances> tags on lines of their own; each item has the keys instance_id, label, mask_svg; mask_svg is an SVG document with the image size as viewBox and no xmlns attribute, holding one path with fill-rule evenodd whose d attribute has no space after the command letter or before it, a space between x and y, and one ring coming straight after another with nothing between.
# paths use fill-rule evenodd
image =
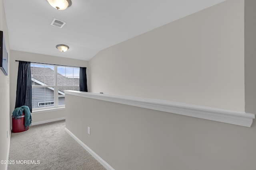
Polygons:
<instances>
[{"instance_id":1,"label":"white ceiling with two dome lights and an air vent","mask_svg":"<svg viewBox=\"0 0 256 170\"><path fill-rule=\"evenodd\" d=\"M72 0L56 10L47 0L4 0L10 49L89 61L102 49L225 0ZM65 21L63 28L50 25ZM67 52L57 44L70 47Z\"/></svg>"}]
</instances>

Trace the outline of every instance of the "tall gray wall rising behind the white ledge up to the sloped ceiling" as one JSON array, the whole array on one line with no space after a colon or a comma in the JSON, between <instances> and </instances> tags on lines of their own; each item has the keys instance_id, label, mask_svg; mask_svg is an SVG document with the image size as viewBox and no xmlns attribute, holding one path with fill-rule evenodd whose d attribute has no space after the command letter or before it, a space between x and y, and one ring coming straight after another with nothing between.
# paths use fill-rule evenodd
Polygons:
<instances>
[{"instance_id":1,"label":"tall gray wall rising behind the white ledge up to the sloped ceiling","mask_svg":"<svg viewBox=\"0 0 256 170\"><path fill-rule=\"evenodd\" d=\"M244 111L244 0L227 0L100 51L90 92Z\"/></svg>"}]
</instances>

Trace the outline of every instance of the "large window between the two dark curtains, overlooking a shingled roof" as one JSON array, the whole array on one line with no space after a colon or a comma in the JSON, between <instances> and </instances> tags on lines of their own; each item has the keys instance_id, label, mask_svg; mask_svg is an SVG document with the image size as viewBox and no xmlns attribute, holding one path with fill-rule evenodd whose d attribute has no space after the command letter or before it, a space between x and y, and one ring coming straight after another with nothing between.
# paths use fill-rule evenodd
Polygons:
<instances>
[{"instance_id":1,"label":"large window between the two dark curtains, overlooking a shingled roof","mask_svg":"<svg viewBox=\"0 0 256 170\"><path fill-rule=\"evenodd\" d=\"M65 106L64 90L79 91L80 68L31 63L32 109Z\"/></svg>"}]
</instances>

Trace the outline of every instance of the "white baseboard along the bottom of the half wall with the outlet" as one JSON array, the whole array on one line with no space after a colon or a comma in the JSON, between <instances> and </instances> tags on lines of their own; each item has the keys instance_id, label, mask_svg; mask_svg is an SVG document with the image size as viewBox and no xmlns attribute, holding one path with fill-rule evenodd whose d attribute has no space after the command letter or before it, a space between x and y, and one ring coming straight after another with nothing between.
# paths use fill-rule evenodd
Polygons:
<instances>
[{"instance_id":1,"label":"white baseboard along the bottom of the half wall with the outlet","mask_svg":"<svg viewBox=\"0 0 256 170\"><path fill-rule=\"evenodd\" d=\"M96 154L92 149L90 149L87 145L85 145L80 139L78 139L72 132L70 132L67 128L65 128L65 131L72 137L74 138L79 145L81 145L87 152L89 152L102 166L104 166L107 170L115 170L108 164L105 160L103 160L98 154Z\"/></svg>"}]
</instances>

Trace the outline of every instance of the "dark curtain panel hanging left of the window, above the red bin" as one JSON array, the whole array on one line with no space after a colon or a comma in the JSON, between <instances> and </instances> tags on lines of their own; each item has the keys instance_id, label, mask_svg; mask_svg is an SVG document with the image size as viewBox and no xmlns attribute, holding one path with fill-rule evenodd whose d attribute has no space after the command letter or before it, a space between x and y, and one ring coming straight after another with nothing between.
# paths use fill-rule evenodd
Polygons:
<instances>
[{"instance_id":1,"label":"dark curtain panel hanging left of the window, above the red bin","mask_svg":"<svg viewBox=\"0 0 256 170\"><path fill-rule=\"evenodd\" d=\"M28 106L32 113L30 62L19 61L15 108Z\"/></svg>"}]
</instances>

